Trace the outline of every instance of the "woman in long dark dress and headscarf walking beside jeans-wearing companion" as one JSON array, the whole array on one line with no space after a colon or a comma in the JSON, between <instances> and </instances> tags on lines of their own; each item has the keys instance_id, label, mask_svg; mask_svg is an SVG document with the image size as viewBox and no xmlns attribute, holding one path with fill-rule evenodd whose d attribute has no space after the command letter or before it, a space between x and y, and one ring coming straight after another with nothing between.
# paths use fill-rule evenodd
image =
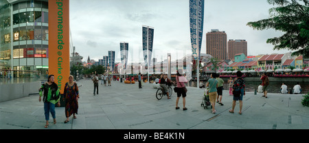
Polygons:
<instances>
[{"instance_id":1,"label":"woman in long dark dress and headscarf walking beside jeans-wearing companion","mask_svg":"<svg viewBox=\"0 0 309 143\"><path fill-rule=\"evenodd\" d=\"M73 76L69 76L69 82L65 84L63 96L63 100L65 100L65 116L67 117L65 123L69 122L69 117L72 114L73 118L76 119L75 114L78 114L78 98L80 98L78 85L73 81Z\"/></svg>"}]
</instances>

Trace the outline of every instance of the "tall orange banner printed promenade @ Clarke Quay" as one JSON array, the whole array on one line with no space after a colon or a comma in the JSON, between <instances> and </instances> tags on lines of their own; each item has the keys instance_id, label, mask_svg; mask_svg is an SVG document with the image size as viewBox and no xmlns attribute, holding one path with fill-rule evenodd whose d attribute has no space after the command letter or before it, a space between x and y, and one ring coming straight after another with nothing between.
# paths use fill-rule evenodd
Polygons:
<instances>
[{"instance_id":1,"label":"tall orange banner printed promenade @ Clarke Quay","mask_svg":"<svg viewBox=\"0 0 309 143\"><path fill-rule=\"evenodd\" d=\"M49 0L48 5L49 74L63 94L70 74L69 0Z\"/></svg>"}]
</instances>

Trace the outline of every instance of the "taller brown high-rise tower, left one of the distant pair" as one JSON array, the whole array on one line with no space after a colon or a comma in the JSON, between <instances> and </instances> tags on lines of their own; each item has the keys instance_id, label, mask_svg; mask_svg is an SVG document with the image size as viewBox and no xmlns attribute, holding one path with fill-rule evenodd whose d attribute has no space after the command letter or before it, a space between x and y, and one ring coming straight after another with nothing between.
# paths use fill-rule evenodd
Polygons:
<instances>
[{"instance_id":1,"label":"taller brown high-rise tower, left one of the distant pair","mask_svg":"<svg viewBox=\"0 0 309 143\"><path fill-rule=\"evenodd\" d=\"M225 31L211 30L206 34L206 54L218 60L227 59L227 34Z\"/></svg>"}]
</instances>

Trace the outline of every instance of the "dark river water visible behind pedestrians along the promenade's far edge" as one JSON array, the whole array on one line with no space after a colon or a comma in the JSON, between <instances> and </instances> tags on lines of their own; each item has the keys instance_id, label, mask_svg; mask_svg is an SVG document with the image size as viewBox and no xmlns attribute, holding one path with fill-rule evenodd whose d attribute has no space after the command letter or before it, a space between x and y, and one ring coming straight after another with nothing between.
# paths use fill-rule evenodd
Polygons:
<instances>
[{"instance_id":1,"label":"dark river water visible behind pedestrians along the promenade's far edge","mask_svg":"<svg viewBox=\"0 0 309 143\"><path fill-rule=\"evenodd\" d=\"M205 82L204 82L205 83ZM255 89L258 90L258 86L262 83L261 81L251 81L251 82L246 82L246 91L254 91ZM296 85L297 82L285 82L285 84L288 86L288 91L290 89L293 89L294 85ZM299 85L301 86L301 92L304 94L309 92L309 83L300 83ZM190 87L196 87L196 81L190 80L189 82ZM280 93L280 87L282 86L282 82L270 82L267 91L268 93ZM225 90L229 90L229 84L227 81L223 84L223 88Z\"/></svg>"}]
</instances>

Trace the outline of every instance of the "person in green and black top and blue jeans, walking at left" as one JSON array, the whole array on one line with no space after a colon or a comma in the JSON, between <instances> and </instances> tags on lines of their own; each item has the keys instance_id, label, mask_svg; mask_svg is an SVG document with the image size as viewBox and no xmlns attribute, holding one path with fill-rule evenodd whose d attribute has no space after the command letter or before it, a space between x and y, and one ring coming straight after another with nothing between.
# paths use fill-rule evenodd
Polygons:
<instances>
[{"instance_id":1,"label":"person in green and black top and blue jeans, walking at left","mask_svg":"<svg viewBox=\"0 0 309 143\"><path fill-rule=\"evenodd\" d=\"M55 77L54 75L49 75L47 78L47 82L44 83L39 90L40 97L38 98L38 102L41 102L41 97L43 96L44 102L44 111L45 111L45 128L49 126L49 112L52 113L52 117L54 118L54 124L56 124L56 112L55 112L55 104L58 104L60 107L60 91L58 85L54 83Z\"/></svg>"}]
</instances>

